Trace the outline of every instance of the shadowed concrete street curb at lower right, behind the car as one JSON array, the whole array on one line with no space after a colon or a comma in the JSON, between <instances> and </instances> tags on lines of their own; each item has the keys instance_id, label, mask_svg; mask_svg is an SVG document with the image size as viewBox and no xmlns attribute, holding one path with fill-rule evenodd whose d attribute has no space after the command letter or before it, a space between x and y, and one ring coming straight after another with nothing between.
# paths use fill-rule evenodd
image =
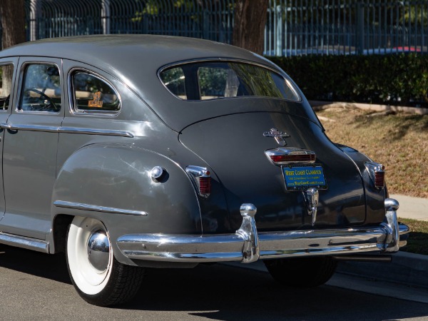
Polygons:
<instances>
[{"instance_id":1,"label":"shadowed concrete street curb at lower right, behind the car","mask_svg":"<svg viewBox=\"0 0 428 321\"><path fill-rule=\"evenodd\" d=\"M337 272L428 288L428 255L399 252L392 255L392 263L340 262Z\"/></svg>"}]
</instances>

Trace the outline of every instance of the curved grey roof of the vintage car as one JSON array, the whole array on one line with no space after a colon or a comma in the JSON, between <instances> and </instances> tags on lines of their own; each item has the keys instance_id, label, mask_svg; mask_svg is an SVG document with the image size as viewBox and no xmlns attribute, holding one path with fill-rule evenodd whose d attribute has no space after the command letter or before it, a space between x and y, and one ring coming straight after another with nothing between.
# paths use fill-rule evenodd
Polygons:
<instances>
[{"instance_id":1,"label":"curved grey roof of the vintage car","mask_svg":"<svg viewBox=\"0 0 428 321\"><path fill-rule=\"evenodd\" d=\"M241 58L272 65L267 59L228 44L178 36L93 35L42 39L0 51L0 56L51 56L89 63L98 68L150 58L160 68L194 58Z\"/></svg>"}]
</instances>

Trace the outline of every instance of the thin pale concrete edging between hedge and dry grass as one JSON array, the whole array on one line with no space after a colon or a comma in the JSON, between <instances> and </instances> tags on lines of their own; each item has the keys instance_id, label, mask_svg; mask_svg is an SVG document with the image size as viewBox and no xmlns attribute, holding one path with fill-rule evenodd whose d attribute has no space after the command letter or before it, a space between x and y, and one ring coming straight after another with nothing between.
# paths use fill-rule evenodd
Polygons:
<instances>
[{"instance_id":1,"label":"thin pale concrete edging between hedge and dry grass","mask_svg":"<svg viewBox=\"0 0 428 321\"><path fill-rule=\"evenodd\" d=\"M428 108L377 105L374 103L342 103L337 101L309 101L314 111L327 108L359 108L366 111L402 111L417 115L428 115Z\"/></svg>"}]
</instances>

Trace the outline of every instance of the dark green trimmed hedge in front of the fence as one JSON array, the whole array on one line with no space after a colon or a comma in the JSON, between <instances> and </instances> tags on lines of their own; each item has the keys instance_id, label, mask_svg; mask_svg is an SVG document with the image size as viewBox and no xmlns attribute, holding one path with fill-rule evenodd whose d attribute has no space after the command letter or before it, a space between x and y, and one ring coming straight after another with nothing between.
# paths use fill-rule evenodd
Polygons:
<instances>
[{"instance_id":1,"label":"dark green trimmed hedge in front of the fence","mask_svg":"<svg viewBox=\"0 0 428 321\"><path fill-rule=\"evenodd\" d=\"M428 108L428 55L267 57L319 101Z\"/></svg>"}]
</instances>

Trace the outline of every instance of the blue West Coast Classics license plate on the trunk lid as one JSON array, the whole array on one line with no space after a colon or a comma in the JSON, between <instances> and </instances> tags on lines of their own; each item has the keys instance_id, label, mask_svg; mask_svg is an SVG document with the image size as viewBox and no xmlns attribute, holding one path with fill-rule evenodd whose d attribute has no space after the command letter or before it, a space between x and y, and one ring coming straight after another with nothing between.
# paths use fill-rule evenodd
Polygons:
<instances>
[{"instance_id":1,"label":"blue West Coast Classics license plate on the trunk lid","mask_svg":"<svg viewBox=\"0 0 428 321\"><path fill-rule=\"evenodd\" d=\"M321 165L282 166L287 190L307 190L307 188L327 189L324 170Z\"/></svg>"}]
</instances>

